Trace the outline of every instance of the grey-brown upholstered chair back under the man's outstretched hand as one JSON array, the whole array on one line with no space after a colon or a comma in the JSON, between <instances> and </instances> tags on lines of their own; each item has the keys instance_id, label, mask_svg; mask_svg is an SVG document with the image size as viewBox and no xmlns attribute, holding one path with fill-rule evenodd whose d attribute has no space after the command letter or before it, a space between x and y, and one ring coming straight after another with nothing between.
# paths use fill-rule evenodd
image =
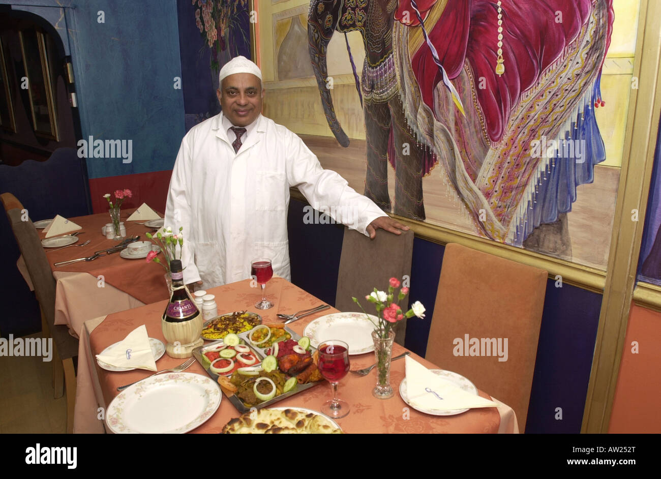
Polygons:
<instances>
[{"instance_id":1,"label":"grey-brown upholstered chair back under the man's outstretched hand","mask_svg":"<svg viewBox=\"0 0 661 479\"><path fill-rule=\"evenodd\" d=\"M388 280L396 277L400 281L411 274L411 256L413 254L413 232L403 231L393 235L387 231L377 231L371 240L356 230L344 228L340 270L337 277L335 308L342 312L360 311L352 297L364 299L374 288L387 291ZM404 301L408 301L408 296ZM361 301L365 311L374 314L373 305ZM403 311L408 305L399 305ZM397 324L395 341L404 345L406 318Z\"/></svg>"}]
</instances>

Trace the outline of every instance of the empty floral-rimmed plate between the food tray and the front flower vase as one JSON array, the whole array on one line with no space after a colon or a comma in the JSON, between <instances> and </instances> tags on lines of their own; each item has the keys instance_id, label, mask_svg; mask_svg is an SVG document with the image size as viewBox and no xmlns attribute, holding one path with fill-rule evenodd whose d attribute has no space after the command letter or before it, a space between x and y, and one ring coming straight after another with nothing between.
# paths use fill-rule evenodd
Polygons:
<instances>
[{"instance_id":1,"label":"empty floral-rimmed plate between the food tray and the front flower vase","mask_svg":"<svg viewBox=\"0 0 661 479\"><path fill-rule=\"evenodd\" d=\"M313 348L328 340L342 340L349 345L349 355L369 353L374 350L371 332L374 324L365 313L333 313L321 316L305 326L303 336L310 338ZM369 314L372 321L378 318Z\"/></svg>"}]
</instances>

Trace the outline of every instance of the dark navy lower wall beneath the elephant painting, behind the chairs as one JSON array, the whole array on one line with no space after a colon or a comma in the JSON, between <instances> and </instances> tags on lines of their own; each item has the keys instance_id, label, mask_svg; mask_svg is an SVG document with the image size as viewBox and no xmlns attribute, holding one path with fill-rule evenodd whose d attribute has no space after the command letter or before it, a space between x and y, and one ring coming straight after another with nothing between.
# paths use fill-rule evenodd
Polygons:
<instances>
[{"instance_id":1,"label":"dark navy lower wall beneath the elephant painting, behind the chairs","mask_svg":"<svg viewBox=\"0 0 661 479\"><path fill-rule=\"evenodd\" d=\"M292 282L334 305L344 227L304 225L304 204L290 203L288 231ZM434 315L444 246L416 238L411 264L410 301L425 305L426 318L407 323L406 345L424 356ZM549 279L526 433L580 433L602 295ZM488 392L488 391L487 391ZM563 419L557 420L556 408Z\"/></svg>"}]
</instances>

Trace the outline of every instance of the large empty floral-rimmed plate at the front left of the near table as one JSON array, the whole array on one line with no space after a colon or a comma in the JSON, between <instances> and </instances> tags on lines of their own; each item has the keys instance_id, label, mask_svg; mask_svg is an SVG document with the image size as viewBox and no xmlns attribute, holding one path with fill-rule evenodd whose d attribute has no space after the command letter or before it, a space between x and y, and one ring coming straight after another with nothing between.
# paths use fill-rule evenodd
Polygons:
<instances>
[{"instance_id":1,"label":"large empty floral-rimmed plate at the front left of the near table","mask_svg":"<svg viewBox=\"0 0 661 479\"><path fill-rule=\"evenodd\" d=\"M114 433L186 433L213 416L221 398L220 388L208 376L164 373L115 396L106 424Z\"/></svg>"}]
</instances>

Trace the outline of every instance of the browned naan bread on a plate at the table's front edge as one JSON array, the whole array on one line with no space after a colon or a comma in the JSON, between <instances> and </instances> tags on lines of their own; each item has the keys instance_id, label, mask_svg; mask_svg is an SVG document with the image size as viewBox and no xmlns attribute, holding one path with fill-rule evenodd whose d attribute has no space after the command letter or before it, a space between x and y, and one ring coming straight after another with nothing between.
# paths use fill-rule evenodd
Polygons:
<instances>
[{"instance_id":1,"label":"browned naan bread on a plate at the table's front edge","mask_svg":"<svg viewBox=\"0 0 661 479\"><path fill-rule=\"evenodd\" d=\"M230 420L225 434L338 434L325 416L295 409L260 409Z\"/></svg>"}]
</instances>

